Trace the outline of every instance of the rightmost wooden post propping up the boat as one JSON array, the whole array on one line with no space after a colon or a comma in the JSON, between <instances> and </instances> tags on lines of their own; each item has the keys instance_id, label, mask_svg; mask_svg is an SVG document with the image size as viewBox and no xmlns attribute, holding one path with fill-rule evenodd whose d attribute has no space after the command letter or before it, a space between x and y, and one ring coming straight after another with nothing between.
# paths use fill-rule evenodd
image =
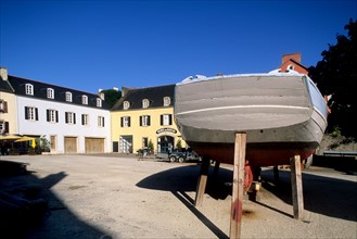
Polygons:
<instances>
[{"instance_id":1,"label":"rightmost wooden post propping up the boat","mask_svg":"<svg viewBox=\"0 0 357 239\"><path fill-rule=\"evenodd\" d=\"M290 159L291 167L291 187L294 207L294 218L303 219L304 216L304 196L302 180L302 164L299 155Z\"/></svg>"}]
</instances>

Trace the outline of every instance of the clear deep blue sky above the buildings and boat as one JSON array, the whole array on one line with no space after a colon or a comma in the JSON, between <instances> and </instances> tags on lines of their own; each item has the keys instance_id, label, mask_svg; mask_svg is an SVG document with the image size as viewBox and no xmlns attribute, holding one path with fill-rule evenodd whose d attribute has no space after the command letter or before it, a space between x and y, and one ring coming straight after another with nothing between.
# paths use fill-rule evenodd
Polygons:
<instances>
[{"instance_id":1,"label":"clear deep blue sky above the buildings and boat","mask_svg":"<svg viewBox=\"0 0 357 239\"><path fill-rule=\"evenodd\" d=\"M88 92L315 66L357 18L356 0L0 1L0 65Z\"/></svg>"}]
</instances>

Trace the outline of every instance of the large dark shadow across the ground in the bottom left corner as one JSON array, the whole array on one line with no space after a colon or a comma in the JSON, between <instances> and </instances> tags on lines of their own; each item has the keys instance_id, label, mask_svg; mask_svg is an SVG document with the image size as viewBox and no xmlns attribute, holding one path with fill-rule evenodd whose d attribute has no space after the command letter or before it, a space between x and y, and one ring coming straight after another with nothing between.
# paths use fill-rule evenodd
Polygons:
<instances>
[{"instance_id":1,"label":"large dark shadow across the ground in the bottom left corner","mask_svg":"<svg viewBox=\"0 0 357 239\"><path fill-rule=\"evenodd\" d=\"M17 165L17 166L16 166ZM9 169L11 168L11 169ZM65 172L38 178L24 164L0 161L0 231L9 238L111 238L51 191Z\"/></svg>"}]
</instances>

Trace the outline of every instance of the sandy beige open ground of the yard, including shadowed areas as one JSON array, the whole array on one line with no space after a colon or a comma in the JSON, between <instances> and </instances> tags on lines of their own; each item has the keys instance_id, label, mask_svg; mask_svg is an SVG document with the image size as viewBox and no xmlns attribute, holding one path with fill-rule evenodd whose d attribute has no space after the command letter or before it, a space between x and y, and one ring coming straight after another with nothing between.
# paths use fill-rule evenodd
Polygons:
<instances>
[{"instance_id":1,"label":"sandy beige open ground of the yard, including shadowed areas","mask_svg":"<svg viewBox=\"0 0 357 239\"><path fill-rule=\"evenodd\" d=\"M29 175L0 178L0 190L27 185L48 200L40 224L10 238L227 238L232 177L208 178L192 205L200 166L118 155L22 155ZM213 168L212 168L213 169ZM211 169L211 173L212 173ZM357 238L357 177L331 168L303 172L305 216L292 217L290 172L264 168L258 202L243 201L242 238ZM21 217L21 215L20 215Z\"/></svg>"}]
</instances>

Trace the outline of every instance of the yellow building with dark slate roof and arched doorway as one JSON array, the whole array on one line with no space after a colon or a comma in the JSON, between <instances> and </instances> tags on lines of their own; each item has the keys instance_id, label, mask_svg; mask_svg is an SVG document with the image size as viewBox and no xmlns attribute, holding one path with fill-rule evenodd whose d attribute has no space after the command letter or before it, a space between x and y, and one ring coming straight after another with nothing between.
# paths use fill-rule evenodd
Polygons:
<instances>
[{"instance_id":1,"label":"yellow building with dark slate roof and arched doorway","mask_svg":"<svg viewBox=\"0 0 357 239\"><path fill-rule=\"evenodd\" d=\"M122 90L111 110L113 152L151 149L167 153L186 148L174 121L175 85Z\"/></svg>"}]
</instances>

